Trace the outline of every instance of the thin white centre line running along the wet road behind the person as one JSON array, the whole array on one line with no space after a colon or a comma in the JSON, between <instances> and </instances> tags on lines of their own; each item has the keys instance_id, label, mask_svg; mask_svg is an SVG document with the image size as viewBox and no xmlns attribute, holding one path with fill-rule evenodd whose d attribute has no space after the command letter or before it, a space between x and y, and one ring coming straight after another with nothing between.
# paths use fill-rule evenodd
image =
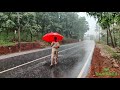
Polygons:
<instances>
[{"instance_id":1,"label":"thin white centre line running along the wet road behind the person","mask_svg":"<svg viewBox=\"0 0 120 90\"><path fill-rule=\"evenodd\" d=\"M77 46L79 46L79 45L77 45ZM61 50L61 51L59 51L58 53L63 52L63 51L66 51L66 50L69 50L69 49L72 49L72 48L75 48L75 47L77 47L77 46L74 46L74 47L71 47L71 48L68 48L68 49L65 49L65 50ZM38 58L38 59L32 60L32 61L30 61L30 62L27 62L27 63L21 64L21 65L15 66L15 67L13 67L13 68L10 68L10 69L1 71L0 74L2 74L2 73L4 73L4 72L7 72L7 71L11 71L11 70L16 69L16 68L19 68L19 67L22 67L22 66L24 66L24 65L30 64L30 63L32 63L32 62L41 60L41 59L46 58L46 57L49 57L49 56L51 56L51 55L47 55L47 56L44 56L44 57L42 57L42 58Z\"/></svg>"}]
</instances>

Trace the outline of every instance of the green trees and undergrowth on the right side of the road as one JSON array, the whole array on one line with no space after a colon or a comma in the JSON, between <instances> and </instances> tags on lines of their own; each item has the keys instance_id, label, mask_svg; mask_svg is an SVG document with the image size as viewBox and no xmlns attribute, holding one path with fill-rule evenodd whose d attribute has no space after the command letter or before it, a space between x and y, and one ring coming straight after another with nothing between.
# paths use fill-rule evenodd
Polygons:
<instances>
[{"instance_id":1,"label":"green trees and undergrowth on the right side of the road","mask_svg":"<svg viewBox=\"0 0 120 90\"><path fill-rule=\"evenodd\" d=\"M98 20L103 31L102 38L107 45L112 47L120 46L120 12L87 12ZM105 39L106 38L106 39Z\"/></svg>"}]
</instances>

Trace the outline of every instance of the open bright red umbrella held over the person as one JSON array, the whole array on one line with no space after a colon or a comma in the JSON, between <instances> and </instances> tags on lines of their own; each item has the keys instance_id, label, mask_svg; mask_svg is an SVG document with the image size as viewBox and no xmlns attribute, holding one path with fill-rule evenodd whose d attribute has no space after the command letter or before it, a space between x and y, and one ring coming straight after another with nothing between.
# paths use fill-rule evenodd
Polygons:
<instances>
[{"instance_id":1,"label":"open bright red umbrella held over the person","mask_svg":"<svg viewBox=\"0 0 120 90\"><path fill-rule=\"evenodd\" d=\"M47 33L43 36L42 39L46 42L52 42L52 41L54 41L54 37L57 37L57 41L62 41L62 39L63 39L63 36L57 32Z\"/></svg>"}]
</instances>

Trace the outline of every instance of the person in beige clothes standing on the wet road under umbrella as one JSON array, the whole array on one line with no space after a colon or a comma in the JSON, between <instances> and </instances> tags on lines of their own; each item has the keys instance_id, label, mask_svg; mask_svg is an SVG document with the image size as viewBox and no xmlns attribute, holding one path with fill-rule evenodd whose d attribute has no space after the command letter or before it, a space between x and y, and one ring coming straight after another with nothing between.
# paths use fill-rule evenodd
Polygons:
<instances>
[{"instance_id":1,"label":"person in beige clothes standing on the wet road under umbrella","mask_svg":"<svg viewBox=\"0 0 120 90\"><path fill-rule=\"evenodd\" d=\"M51 52L51 65L58 63L58 48L60 47L57 37L54 37L54 41L51 43L52 52Z\"/></svg>"}]
</instances>

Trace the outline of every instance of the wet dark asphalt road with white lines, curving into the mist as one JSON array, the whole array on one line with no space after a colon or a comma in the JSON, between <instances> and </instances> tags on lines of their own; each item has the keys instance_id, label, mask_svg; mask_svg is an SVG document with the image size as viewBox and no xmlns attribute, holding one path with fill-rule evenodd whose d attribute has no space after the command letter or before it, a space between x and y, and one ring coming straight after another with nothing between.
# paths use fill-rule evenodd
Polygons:
<instances>
[{"instance_id":1,"label":"wet dark asphalt road with white lines, curving into the mist","mask_svg":"<svg viewBox=\"0 0 120 90\"><path fill-rule=\"evenodd\" d=\"M50 48L24 58L0 60L0 78L77 78L93 45L93 41L86 40L61 46L59 63L52 68L49 66Z\"/></svg>"}]
</instances>

